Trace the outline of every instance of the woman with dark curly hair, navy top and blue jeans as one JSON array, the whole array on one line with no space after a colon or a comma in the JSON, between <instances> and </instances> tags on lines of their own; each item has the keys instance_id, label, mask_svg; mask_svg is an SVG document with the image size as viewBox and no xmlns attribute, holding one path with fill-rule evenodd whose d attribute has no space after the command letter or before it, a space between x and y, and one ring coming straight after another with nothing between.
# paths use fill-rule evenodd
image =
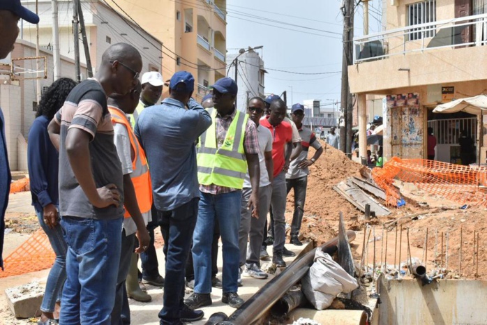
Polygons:
<instances>
[{"instance_id":1,"label":"woman with dark curly hair, navy top and blue jeans","mask_svg":"<svg viewBox=\"0 0 487 325\"><path fill-rule=\"evenodd\" d=\"M47 125L61 108L76 83L69 78L54 82L40 98L36 119L29 131L27 161L31 183L32 205L47 234L56 260L47 277L42 312L38 325L57 324L54 321L54 309L59 309L61 291L66 280L66 242L59 225L59 192L58 192L58 152L47 134Z\"/></svg>"}]
</instances>

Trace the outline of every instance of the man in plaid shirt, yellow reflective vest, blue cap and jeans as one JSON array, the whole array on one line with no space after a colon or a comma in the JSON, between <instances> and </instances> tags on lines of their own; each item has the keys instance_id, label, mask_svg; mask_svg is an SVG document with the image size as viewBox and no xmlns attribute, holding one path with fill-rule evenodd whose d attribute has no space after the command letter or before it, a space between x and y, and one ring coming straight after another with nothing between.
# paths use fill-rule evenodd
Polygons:
<instances>
[{"instance_id":1,"label":"man in plaid shirt, yellow reflective vest, blue cap and jeans","mask_svg":"<svg viewBox=\"0 0 487 325\"><path fill-rule=\"evenodd\" d=\"M215 220L223 243L222 302L243 305L237 294L239 278L239 227L243 181L250 174L252 192L248 209L258 216L260 151L257 128L248 115L236 109L237 84L222 78L213 85L214 107L208 109L213 125L201 135L197 148L200 206L193 235L195 291L186 299L189 308L211 305L211 241Z\"/></svg>"}]
</instances>

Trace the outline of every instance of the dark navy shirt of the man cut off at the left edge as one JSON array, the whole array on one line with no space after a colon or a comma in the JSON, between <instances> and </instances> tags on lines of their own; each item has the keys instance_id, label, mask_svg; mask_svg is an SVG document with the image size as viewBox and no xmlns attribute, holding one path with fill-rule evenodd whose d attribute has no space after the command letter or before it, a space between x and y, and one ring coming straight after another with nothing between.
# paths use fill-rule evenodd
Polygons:
<instances>
[{"instance_id":1,"label":"dark navy shirt of the man cut off at the left edge","mask_svg":"<svg viewBox=\"0 0 487 325\"><path fill-rule=\"evenodd\" d=\"M3 235L5 233L5 211L8 205L8 193L10 192L10 166L8 166L7 140L4 131L5 119L0 108L0 267L3 270Z\"/></svg>"}]
</instances>

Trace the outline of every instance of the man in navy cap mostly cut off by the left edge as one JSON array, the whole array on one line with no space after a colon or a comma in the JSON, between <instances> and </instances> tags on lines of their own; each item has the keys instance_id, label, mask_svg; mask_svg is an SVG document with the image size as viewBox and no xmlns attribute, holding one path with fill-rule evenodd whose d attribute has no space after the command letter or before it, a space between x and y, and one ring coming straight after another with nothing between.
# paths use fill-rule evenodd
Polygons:
<instances>
[{"instance_id":1,"label":"man in navy cap mostly cut off by the left edge","mask_svg":"<svg viewBox=\"0 0 487 325\"><path fill-rule=\"evenodd\" d=\"M20 4L20 0L0 0L0 59L5 59L12 52L19 35L17 23L23 19L37 24L39 17ZM3 270L3 232L5 230L5 211L10 192L10 167L8 166L7 140L4 131L5 119L0 108L0 268Z\"/></svg>"}]
</instances>

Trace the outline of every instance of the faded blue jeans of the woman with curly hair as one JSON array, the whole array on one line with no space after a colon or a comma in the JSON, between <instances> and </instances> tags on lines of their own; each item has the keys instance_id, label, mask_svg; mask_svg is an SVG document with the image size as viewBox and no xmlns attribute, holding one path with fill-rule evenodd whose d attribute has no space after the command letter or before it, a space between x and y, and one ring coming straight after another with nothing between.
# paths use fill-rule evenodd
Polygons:
<instances>
[{"instance_id":1,"label":"faded blue jeans of the woman with curly hair","mask_svg":"<svg viewBox=\"0 0 487 325\"><path fill-rule=\"evenodd\" d=\"M59 206L57 207L59 208ZM40 227L43 228L51 243L52 250L56 254L54 265L52 265L51 271L49 271L49 275L47 276L43 303L40 305L40 310L43 312L54 312L56 302L61 301L61 292L64 281L66 281L66 251L68 250L68 245L64 241L63 229L59 223L54 229L50 229L44 222L44 211L38 211L36 209L36 214Z\"/></svg>"}]
</instances>

